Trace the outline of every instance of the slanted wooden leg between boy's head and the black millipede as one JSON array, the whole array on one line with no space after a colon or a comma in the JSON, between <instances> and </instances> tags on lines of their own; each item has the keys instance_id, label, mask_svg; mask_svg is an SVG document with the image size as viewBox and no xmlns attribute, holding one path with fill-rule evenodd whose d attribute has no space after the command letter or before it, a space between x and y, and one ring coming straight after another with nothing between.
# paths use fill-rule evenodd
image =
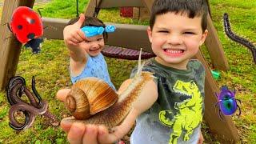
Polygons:
<instances>
[{"instance_id":1,"label":"slanted wooden leg between boy's head and the black millipede","mask_svg":"<svg viewBox=\"0 0 256 144\"><path fill-rule=\"evenodd\" d=\"M206 48L210 54L210 60L215 69L218 70L230 70L230 66L227 62L226 56L222 44L218 38L217 30L210 18L210 14L207 17L207 30L208 35L206 37Z\"/></svg>"}]
</instances>

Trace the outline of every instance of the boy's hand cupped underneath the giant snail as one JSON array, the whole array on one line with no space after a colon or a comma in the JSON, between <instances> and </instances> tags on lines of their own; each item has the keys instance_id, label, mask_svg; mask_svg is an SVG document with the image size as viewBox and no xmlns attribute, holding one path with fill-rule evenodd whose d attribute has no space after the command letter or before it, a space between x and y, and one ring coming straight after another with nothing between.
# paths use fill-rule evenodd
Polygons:
<instances>
[{"instance_id":1,"label":"boy's hand cupped underneath the giant snail","mask_svg":"<svg viewBox=\"0 0 256 144\"><path fill-rule=\"evenodd\" d=\"M69 92L70 89L58 90L56 98L63 102ZM126 124L129 124L129 122L126 122ZM67 133L67 139L71 144L113 143L117 142L119 138L122 138L123 135L126 134L127 130L126 125L122 124L120 126L115 126L111 130L112 133L109 133L106 126L96 126L90 124L86 125L81 122L70 122L66 120L66 118L62 119L61 127L62 130Z\"/></svg>"}]
</instances>

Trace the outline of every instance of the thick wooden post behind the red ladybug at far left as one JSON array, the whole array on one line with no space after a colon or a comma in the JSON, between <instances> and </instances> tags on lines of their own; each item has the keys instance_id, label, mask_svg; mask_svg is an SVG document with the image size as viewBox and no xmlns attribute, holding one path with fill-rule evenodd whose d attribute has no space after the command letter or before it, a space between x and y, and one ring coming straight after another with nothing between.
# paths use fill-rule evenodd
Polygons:
<instances>
[{"instance_id":1,"label":"thick wooden post behind the red ladybug at far left","mask_svg":"<svg viewBox=\"0 0 256 144\"><path fill-rule=\"evenodd\" d=\"M4 90L8 80L15 75L22 44L7 27L11 15L18 6L34 5L34 0L5 0L0 25L0 88Z\"/></svg>"}]
</instances>

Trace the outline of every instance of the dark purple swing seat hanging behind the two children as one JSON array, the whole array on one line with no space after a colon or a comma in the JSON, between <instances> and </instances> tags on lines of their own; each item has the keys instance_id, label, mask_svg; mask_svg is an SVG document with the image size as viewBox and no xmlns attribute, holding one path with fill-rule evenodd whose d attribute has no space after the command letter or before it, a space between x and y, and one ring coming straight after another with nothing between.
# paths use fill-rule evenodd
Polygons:
<instances>
[{"instance_id":1,"label":"dark purple swing seat hanging behind the two children","mask_svg":"<svg viewBox=\"0 0 256 144\"><path fill-rule=\"evenodd\" d=\"M109 58L138 60L139 50L105 45L105 48L102 50L102 54ZM142 59L148 59L152 57L155 57L153 53L142 51Z\"/></svg>"}]
</instances>

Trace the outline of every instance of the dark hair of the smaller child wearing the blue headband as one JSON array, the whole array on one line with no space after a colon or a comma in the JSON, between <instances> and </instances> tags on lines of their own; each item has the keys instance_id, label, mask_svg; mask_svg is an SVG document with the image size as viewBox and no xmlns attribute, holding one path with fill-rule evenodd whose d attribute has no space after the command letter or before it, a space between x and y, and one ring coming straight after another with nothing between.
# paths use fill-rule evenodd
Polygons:
<instances>
[{"instance_id":1,"label":"dark hair of the smaller child wearing the blue headband","mask_svg":"<svg viewBox=\"0 0 256 144\"><path fill-rule=\"evenodd\" d=\"M78 22L78 19L79 19L79 17L72 18L70 20L70 22L67 23L67 26L73 25L75 22ZM95 17L87 17L87 16L85 16L85 21L83 22L81 28L83 26L102 26L104 29L106 27L106 25L100 19L95 18ZM107 33L105 31L103 32L103 38L104 38L104 41L106 42Z\"/></svg>"}]
</instances>

